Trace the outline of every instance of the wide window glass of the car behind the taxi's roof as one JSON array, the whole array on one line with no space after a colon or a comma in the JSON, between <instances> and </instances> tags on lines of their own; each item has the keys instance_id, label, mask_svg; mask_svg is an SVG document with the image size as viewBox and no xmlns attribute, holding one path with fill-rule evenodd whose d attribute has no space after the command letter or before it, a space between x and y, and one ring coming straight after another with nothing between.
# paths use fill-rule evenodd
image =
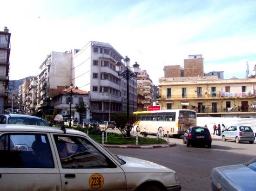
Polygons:
<instances>
[{"instance_id":1,"label":"wide window glass of the car behind the taxi's roof","mask_svg":"<svg viewBox=\"0 0 256 191\"><path fill-rule=\"evenodd\" d=\"M25 117L9 117L7 124L48 126L47 122L43 121L42 119Z\"/></svg>"}]
</instances>

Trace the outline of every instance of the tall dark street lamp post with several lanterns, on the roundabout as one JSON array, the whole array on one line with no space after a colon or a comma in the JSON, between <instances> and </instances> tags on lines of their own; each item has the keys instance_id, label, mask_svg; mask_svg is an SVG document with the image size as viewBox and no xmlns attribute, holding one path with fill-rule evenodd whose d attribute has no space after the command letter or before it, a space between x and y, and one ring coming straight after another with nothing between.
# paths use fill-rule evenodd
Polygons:
<instances>
[{"instance_id":1,"label":"tall dark street lamp post with several lanterns, on the roundabout","mask_svg":"<svg viewBox=\"0 0 256 191\"><path fill-rule=\"evenodd\" d=\"M135 62L135 64L133 65L134 67L134 72L135 74L129 70L130 67L130 58L128 58L127 56L125 56L125 58L123 59L126 70L124 72L121 73L121 66L122 63L117 61L115 63L115 67L116 67L116 72L118 73L118 76L123 76L126 79L126 85L127 85L127 133L126 136L130 137L130 131L131 131L131 126L130 126L130 121L129 121L129 79L132 77L136 77L137 73L139 72L139 67L140 65L137 64L137 62Z\"/></svg>"}]
</instances>

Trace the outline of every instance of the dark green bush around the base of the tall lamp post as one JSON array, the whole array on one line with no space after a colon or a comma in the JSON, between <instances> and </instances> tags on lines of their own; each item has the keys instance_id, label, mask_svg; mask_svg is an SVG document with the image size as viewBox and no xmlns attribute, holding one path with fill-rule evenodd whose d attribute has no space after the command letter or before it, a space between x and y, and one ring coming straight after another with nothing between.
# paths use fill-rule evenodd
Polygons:
<instances>
[{"instance_id":1,"label":"dark green bush around the base of the tall lamp post","mask_svg":"<svg viewBox=\"0 0 256 191\"><path fill-rule=\"evenodd\" d=\"M134 127L135 124L137 124L136 120L136 115L130 114L129 115L129 122L130 126L127 127L127 114L126 113L121 113L121 114L112 114L111 115L111 120L115 121L116 127L121 131L121 134L124 137L130 138L130 131L132 127Z\"/></svg>"}]
</instances>

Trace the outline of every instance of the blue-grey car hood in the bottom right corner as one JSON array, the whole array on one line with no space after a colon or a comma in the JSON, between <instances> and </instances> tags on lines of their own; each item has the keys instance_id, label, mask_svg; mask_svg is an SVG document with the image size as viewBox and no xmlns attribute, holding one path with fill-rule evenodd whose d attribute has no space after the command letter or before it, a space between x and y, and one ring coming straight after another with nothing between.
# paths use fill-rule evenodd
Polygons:
<instances>
[{"instance_id":1,"label":"blue-grey car hood in the bottom right corner","mask_svg":"<svg viewBox=\"0 0 256 191\"><path fill-rule=\"evenodd\" d=\"M256 172L243 164L214 168L211 178L215 178L227 190L256 190Z\"/></svg>"}]
</instances>

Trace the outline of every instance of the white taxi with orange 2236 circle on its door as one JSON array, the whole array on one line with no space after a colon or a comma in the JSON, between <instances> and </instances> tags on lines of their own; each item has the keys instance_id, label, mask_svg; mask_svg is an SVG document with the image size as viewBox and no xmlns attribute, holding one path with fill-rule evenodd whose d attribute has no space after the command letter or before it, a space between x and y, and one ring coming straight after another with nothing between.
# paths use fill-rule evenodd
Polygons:
<instances>
[{"instance_id":1,"label":"white taxi with orange 2236 circle on its door","mask_svg":"<svg viewBox=\"0 0 256 191\"><path fill-rule=\"evenodd\" d=\"M73 129L0 125L1 190L180 191L175 171L115 156Z\"/></svg>"}]
</instances>

